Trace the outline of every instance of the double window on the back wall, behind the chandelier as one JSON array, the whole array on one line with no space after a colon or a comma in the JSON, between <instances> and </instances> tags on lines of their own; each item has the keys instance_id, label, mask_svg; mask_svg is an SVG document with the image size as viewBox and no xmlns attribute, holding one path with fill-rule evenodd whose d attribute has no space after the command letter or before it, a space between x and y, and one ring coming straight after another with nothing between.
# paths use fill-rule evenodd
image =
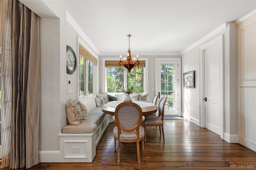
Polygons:
<instances>
[{"instance_id":1,"label":"double window on the back wall, behind the chandelier","mask_svg":"<svg viewBox=\"0 0 256 170\"><path fill-rule=\"evenodd\" d=\"M134 87L134 92L144 93L144 67L132 69L130 73L120 67L106 69L108 93L122 93L124 87Z\"/></svg>"}]
</instances>

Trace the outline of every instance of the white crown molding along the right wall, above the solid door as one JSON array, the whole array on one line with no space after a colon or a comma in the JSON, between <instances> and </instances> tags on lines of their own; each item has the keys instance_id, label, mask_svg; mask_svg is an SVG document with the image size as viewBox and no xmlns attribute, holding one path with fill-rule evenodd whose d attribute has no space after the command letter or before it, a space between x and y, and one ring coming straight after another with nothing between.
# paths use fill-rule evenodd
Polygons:
<instances>
[{"instance_id":1,"label":"white crown molding along the right wall, above the solid door","mask_svg":"<svg viewBox=\"0 0 256 170\"><path fill-rule=\"evenodd\" d=\"M206 40L208 40L209 38L215 36L216 34L222 32L223 30L225 30L228 27L229 22L225 22L224 24L220 25L219 27L217 27L215 30L213 30L212 32L210 32L209 34L207 34L206 36L204 36L203 38L201 38L200 40L198 40L197 42L195 42L194 44L190 45L189 47L187 47L186 49L184 49L183 51L181 51L181 55L187 53L188 51L190 51L191 49L193 49L194 47L200 45L201 43L205 42Z\"/></svg>"}]
</instances>

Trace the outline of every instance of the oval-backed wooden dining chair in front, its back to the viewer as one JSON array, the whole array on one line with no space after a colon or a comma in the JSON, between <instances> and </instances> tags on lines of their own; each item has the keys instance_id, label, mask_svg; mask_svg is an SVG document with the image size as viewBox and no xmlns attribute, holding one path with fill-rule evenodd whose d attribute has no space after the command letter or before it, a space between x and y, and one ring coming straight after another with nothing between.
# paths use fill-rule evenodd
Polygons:
<instances>
[{"instance_id":1,"label":"oval-backed wooden dining chair in front, its back to the viewer","mask_svg":"<svg viewBox=\"0 0 256 170\"><path fill-rule=\"evenodd\" d=\"M142 123L142 110L139 105L133 102L120 103L115 110L116 126L113 129L114 149L116 151L116 140L118 140L118 158L120 163L121 142L136 142L138 164L140 165L140 140L144 150L144 128Z\"/></svg>"}]
</instances>

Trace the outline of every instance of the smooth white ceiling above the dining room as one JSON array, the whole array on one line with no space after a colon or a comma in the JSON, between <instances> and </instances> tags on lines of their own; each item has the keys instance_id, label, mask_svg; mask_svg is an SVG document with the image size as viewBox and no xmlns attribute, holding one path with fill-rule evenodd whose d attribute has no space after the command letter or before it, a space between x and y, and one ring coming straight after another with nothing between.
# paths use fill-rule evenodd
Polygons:
<instances>
[{"instance_id":1,"label":"smooth white ceiling above the dining room","mask_svg":"<svg viewBox=\"0 0 256 170\"><path fill-rule=\"evenodd\" d=\"M179 53L225 22L256 8L256 0L62 0L100 55Z\"/></svg>"}]
</instances>

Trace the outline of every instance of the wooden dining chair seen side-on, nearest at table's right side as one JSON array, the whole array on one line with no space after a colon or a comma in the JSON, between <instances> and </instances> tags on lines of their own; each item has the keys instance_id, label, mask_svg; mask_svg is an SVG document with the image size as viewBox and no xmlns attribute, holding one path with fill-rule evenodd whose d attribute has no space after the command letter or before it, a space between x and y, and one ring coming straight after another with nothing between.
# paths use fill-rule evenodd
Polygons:
<instances>
[{"instance_id":1,"label":"wooden dining chair seen side-on, nearest at table's right side","mask_svg":"<svg viewBox=\"0 0 256 170\"><path fill-rule=\"evenodd\" d=\"M144 129L145 129L145 139L146 142L146 135L147 135L147 126L159 126L160 136L161 136L161 127L164 139L164 105L166 103L167 97L163 97L158 105L159 114L158 116L146 116L144 121Z\"/></svg>"}]
</instances>

